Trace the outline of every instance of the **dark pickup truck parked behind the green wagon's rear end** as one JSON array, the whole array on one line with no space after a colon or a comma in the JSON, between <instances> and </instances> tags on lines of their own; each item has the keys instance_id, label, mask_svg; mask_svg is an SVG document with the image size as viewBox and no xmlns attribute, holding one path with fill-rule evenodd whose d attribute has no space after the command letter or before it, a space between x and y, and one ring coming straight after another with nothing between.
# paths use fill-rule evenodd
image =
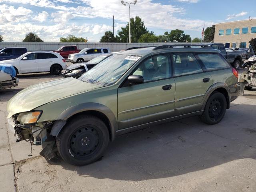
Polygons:
<instances>
[{"instance_id":1,"label":"dark pickup truck parked behind the green wagon's rear end","mask_svg":"<svg viewBox=\"0 0 256 192\"><path fill-rule=\"evenodd\" d=\"M211 46L213 49L220 50L220 53L236 70L240 68L242 62L246 59L246 52L244 50L226 51L225 46L222 43L210 43L207 45Z\"/></svg>"}]
</instances>

